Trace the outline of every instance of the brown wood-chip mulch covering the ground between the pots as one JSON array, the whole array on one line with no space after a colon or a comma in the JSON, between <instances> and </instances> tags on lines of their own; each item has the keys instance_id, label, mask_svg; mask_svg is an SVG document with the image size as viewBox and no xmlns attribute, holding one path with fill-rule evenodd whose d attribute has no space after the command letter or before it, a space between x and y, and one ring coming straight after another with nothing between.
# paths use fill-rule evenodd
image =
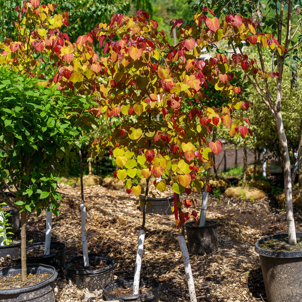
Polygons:
<instances>
[{"instance_id":1,"label":"brown wood-chip mulch covering the ground between the pots","mask_svg":"<svg viewBox=\"0 0 302 302\"><path fill-rule=\"evenodd\" d=\"M63 202L53 219L52 240L66 244L66 261L81 255L80 187L60 184ZM115 261L115 278L133 275L141 212L137 197L124 190L102 186L84 188L89 252L106 254ZM186 195L181 196L181 200ZM200 197L198 197L200 199ZM302 211L295 210L296 229L301 230ZM284 210L274 198L243 200L210 195L207 218L219 222L218 250L209 255L190 256L198 301L266 301L259 256L255 242L265 236L286 232ZM45 234L45 213L28 217L28 244L41 242ZM174 216L147 214L142 276L161 285L161 302L189 302L184 264ZM59 273L55 286L57 302L102 300L102 292L79 290Z\"/></svg>"}]
</instances>

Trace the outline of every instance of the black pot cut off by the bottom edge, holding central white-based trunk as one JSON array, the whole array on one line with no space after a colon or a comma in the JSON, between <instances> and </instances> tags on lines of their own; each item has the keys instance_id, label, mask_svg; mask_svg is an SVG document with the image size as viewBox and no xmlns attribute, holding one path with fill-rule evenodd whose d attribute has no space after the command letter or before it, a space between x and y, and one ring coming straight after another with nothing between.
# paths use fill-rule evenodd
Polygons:
<instances>
[{"instance_id":1,"label":"black pot cut off by the bottom edge, holding central white-based trunk","mask_svg":"<svg viewBox=\"0 0 302 302\"><path fill-rule=\"evenodd\" d=\"M161 284L157 280L147 277L140 279L139 286L140 288L141 287L150 288L152 286L152 290L149 290L145 293L140 293L138 295L129 295L129 296L112 293L114 289L133 287L133 278L134 277L122 277L109 282L104 287L103 290L105 300L106 301L119 300L121 302L123 301L158 302L159 301Z\"/></svg>"}]
</instances>

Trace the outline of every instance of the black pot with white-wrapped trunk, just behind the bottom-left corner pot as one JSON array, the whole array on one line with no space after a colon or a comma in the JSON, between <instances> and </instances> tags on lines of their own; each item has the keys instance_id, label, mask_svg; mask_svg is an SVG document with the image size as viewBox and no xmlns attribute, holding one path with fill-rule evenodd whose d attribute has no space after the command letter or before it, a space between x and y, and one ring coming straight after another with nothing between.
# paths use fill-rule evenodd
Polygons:
<instances>
[{"instance_id":1,"label":"black pot with white-wrapped trunk, just behind the bottom-left corner pot","mask_svg":"<svg viewBox=\"0 0 302 302\"><path fill-rule=\"evenodd\" d=\"M45 242L33 243L26 247L26 252L34 249L44 249ZM50 249L56 252L50 253L49 255L41 255L37 257L27 256L27 263L42 263L46 265L53 266L55 269L59 270L64 267L65 263L65 244L61 242L51 242Z\"/></svg>"}]
</instances>

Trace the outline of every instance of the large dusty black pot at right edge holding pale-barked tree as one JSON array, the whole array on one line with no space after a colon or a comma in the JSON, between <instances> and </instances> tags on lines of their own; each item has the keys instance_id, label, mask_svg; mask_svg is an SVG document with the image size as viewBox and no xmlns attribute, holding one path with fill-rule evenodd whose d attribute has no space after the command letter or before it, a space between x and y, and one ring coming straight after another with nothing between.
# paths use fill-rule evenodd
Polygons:
<instances>
[{"instance_id":1,"label":"large dusty black pot at right edge holding pale-barked tree","mask_svg":"<svg viewBox=\"0 0 302 302\"><path fill-rule=\"evenodd\" d=\"M270 239L281 239L288 234L262 238L255 244L268 302L300 302L302 300L302 251L269 251L260 244ZM302 233L296 233L302 238Z\"/></svg>"}]
</instances>

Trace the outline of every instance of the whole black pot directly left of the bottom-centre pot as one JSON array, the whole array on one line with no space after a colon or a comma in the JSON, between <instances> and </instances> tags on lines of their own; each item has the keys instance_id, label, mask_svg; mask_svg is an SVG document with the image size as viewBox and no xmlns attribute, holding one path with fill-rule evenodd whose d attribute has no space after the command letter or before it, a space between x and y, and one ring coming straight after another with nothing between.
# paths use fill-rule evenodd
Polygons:
<instances>
[{"instance_id":1,"label":"whole black pot directly left of the bottom-centre pot","mask_svg":"<svg viewBox=\"0 0 302 302\"><path fill-rule=\"evenodd\" d=\"M85 267L83 267L83 270L73 269L72 264L81 260L83 260L83 256L73 257L64 265L68 278L78 288L88 288L90 291L103 289L113 279L114 260L110 256L99 254L90 254L88 256L89 261L103 261L107 265L106 267L96 270L88 270Z\"/></svg>"}]
</instances>

